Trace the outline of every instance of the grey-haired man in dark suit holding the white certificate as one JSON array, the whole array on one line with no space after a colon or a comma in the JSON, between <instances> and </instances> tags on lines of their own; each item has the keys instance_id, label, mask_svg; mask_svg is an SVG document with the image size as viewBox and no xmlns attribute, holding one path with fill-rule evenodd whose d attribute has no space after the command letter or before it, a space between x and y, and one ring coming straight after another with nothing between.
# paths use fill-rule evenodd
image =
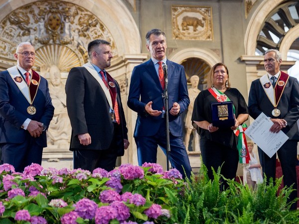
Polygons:
<instances>
[{"instance_id":1,"label":"grey-haired man in dark suit holding the white certificate","mask_svg":"<svg viewBox=\"0 0 299 224\"><path fill-rule=\"evenodd\" d=\"M299 118L299 83L296 78L280 71L282 63L278 50L267 50L264 56L264 65L268 74L251 84L249 92L249 114L256 119L264 112L273 121L270 131L278 133L282 130L288 135L289 140L278 150L284 175L284 184L295 189L290 200L297 197L297 142L299 132L297 120ZM275 180L276 155L270 158L259 148L260 162L263 173ZM297 208L297 203L292 209Z\"/></svg>"}]
</instances>

